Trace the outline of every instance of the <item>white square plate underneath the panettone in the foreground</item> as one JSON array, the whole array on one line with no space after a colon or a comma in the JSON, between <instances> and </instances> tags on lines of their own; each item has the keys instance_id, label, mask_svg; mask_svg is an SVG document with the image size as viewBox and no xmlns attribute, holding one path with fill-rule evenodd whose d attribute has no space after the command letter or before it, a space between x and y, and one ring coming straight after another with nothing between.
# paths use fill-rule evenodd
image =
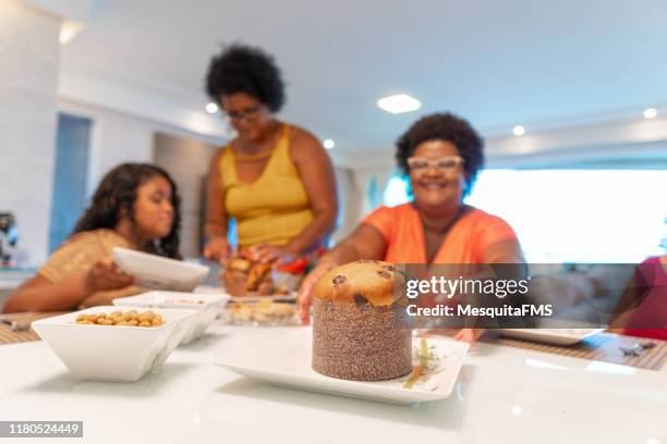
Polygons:
<instances>
[{"instance_id":1,"label":"white square plate underneath the panettone in the foreground","mask_svg":"<svg viewBox=\"0 0 667 444\"><path fill-rule=\"evenodd\" d=\"M278 336L257 347L219 357L216 363L239 374L276 385L349 397L409 404L447 398L454 386L469 344L451 340L413 338L419 350L426 341L429 371L412 388L404 388L410 375L389 381L347 381L325 377L311 367L312 329ZM416 359L416 357L415 357ZM416 363L416 360L413 361Z\"/></svg>"}]
</instances>

